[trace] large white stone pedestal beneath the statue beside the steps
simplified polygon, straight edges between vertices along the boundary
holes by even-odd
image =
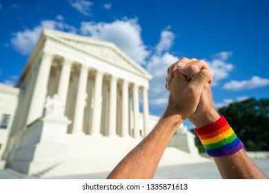
[[[67,157],[66,134],[70,121],[65,116],[46,116],[17,134],[7,166],[28,175],[48,170]]]

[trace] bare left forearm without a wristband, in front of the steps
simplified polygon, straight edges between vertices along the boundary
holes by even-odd
[[[182,123],[168,108],[159,123],[108,175],[108,179],[152,179],[170,139]]]

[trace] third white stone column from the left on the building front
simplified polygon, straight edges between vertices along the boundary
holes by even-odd
[[[88,68],[81,67],[79,74],[79,85],[77,88],[77,99],[74,107],[74,123],[72,133],[82,134],[84,108],[86,104],[86,88],[88,80]]]

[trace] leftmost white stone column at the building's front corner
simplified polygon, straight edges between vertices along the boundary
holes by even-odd
[[[26,125],[39,119],[43,115],[43,108],[48,90],[48,79],[50,77],[50,68],[52,65],[52,54],[43,52],[41,63],[37,74],[37,79],[32,93],[30,108],[26,119]]]

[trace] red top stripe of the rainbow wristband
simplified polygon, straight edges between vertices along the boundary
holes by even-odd
[[[204,126],[203,128],[195,128],[195,132],[198,135],[203,135],[203,134],[209,134],[211,132],[215,132],[219,130],[220,128],[223,128],[226,125],[227,121],[224,118],[224,116],[221,116],[218,121],[211,123],[209,125]]]

